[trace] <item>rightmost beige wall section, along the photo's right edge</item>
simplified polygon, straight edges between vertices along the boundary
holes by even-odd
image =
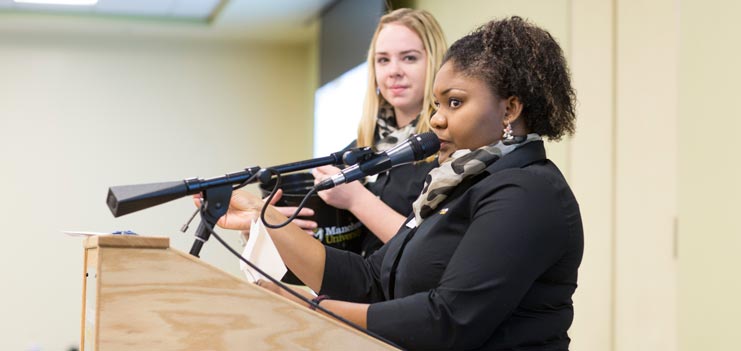
[[[738,1],[681,1],[680,350],[738,349],[741,23]]]

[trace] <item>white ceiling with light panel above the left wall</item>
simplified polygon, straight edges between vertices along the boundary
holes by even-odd
[[[0,0],[3,31],[120,33],[301,42],[337,0],[98,0],[60,6]]]

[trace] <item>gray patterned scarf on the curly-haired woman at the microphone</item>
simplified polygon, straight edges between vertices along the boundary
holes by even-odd
[[[531,141],[542,140],[538,134],[528,134],[527,138],[518,144],[504,145],[501,141],[496,144],[482,146],[476,150],[461,149],[450,155],[439,167],[427,174],[422,193],[412,207],[414,208],[415,223],[419,225],[425,218],[435,212],[440,203],[450,195],[464,179],[479,174],[489,165]]]

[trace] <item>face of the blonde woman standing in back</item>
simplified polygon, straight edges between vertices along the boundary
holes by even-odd
[[[397,112],[418,114],[422,110],[427,52],[422,40],[401,24],[383,26],[376,38],[374,66],[376,84]]]

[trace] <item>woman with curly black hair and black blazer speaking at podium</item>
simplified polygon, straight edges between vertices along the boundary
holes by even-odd
[[[433,94],[440,166],[386,245],[363,259],[292,225],[273,241],[322,307],[403,347],[567,350],[582,222],[542,141],[574,131],[561,48],[521,18],[489,22],[453,44]],[[219,224],[262,205],[240,193]]]

